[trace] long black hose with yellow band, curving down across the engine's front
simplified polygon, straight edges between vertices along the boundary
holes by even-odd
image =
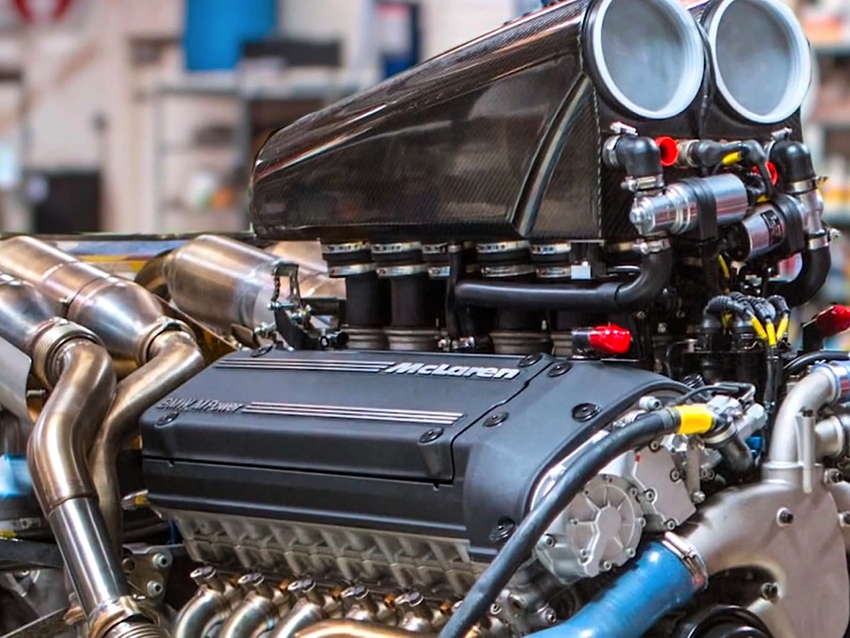
[[[575,495],[581,492],[587,481],[621,454],[646,445],[658,436],[675,433],[683,424],[683,413],[680,411],[683,409],[667,408],[646,414],[614,430],[602,441],[578,454],[564,470],[564,474],[555,481],[552,489],[519,523],[513,536],[507,540],[463,599],[461,606],[440,630],[438,638],[463,638],[467,635],[531,555],[541,536]]]

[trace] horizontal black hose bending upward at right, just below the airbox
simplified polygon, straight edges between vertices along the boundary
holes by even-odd
[[[623,312],[650,305],[670,282],[673,256],[669,249],[643,255],[638,277],[627,283],[580,284],[519,282],[459,282],[455,299],[461,305],[516,310],[583,310]]]

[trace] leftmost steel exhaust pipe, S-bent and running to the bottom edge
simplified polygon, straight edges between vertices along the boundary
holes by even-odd
[[[0,336],[31,356],[51,390],[27,451],[33,489],[44,510],[91,638],[144,628],[162,636],[130,595],[94,496],[85,451],[116,389],[111,358],[90,331],[54,316],[35,288],[0,279]]]

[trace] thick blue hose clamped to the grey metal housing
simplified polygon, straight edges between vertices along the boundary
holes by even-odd
[[[639,638],[702,588],[700,578],[664,544],[651,543],[607,590],[557,627],[534,638]]]

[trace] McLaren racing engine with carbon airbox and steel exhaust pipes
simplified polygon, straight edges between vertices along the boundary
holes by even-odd
[[[250,235],[134,281],[0,242],[8,609],[48,591],[92,638],[850,635],[802,29],[779,0],[546,5],[273,134]]]

